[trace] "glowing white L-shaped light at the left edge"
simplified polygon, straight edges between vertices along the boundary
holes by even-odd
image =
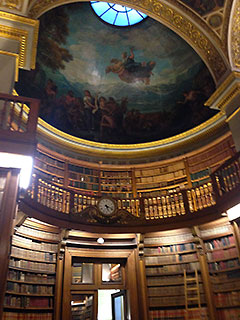
[[[0,152],[0,167],[19,168],[19,187],[27,189],[30,183],[33,167],[33,158],[21,154]]]

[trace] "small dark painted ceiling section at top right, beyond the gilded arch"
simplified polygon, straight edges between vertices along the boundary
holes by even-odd
[[[201,16],[223,8],[225,0],[181,0]]]

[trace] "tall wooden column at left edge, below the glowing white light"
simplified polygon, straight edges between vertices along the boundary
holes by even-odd
[[[3,313],[13,219],[16,214],[19,171],[20,169],[0,169],[0,319]]]

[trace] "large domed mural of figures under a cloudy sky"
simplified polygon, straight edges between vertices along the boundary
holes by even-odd
[[[20,73],[16,90],[41,99],[51,125],[97,142],[155,141],[216,113],[204,107],[211,75],[179,36],[151,18],[113,27],[89,3],[40,18],[37,66]]]

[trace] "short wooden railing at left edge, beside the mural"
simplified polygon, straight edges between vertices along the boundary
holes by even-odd
[[[33,135],[39,100],[0,93],[0,130]]]

